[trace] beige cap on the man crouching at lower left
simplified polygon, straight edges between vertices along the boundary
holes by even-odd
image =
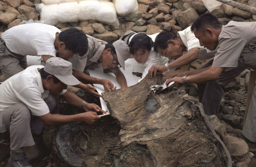
[[[48,59],[45,63],[44,71],[54,75],[66,85],[73,86],[80,83],[80,81],[72,75],[72,63],[62,58],[51,57]]]

